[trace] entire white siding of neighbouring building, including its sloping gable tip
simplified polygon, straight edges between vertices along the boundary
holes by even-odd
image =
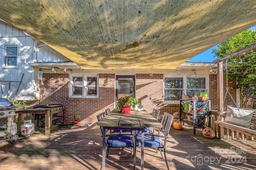
[[[38,48],[38,52],[36,52],[36,46],[41,44],[43,43],[0,20],[0,81],[3,89],[3,93],[0,89],[0,97],[3,94],[7,98],[10,89],[11,100],[13,100],[24,73],[16,99],[39,100],[38,70],[34,70],[28,63],[70,61],[47,45]],[[18,45],[18,68],[4,68],[4,45]]]

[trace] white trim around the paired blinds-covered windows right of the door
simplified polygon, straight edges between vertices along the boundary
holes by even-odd
[[[171,77],[171,78],[175,78],[175,77],[183,77],[183,93],[186,93],[187,90],[187,77],[204,77],[205,78],[205,88],[206,88],[206,92],[209,93],[209,75],[164,75],[164,81],[166,77]],[[208,94],[209,95],[209,94]],[[184,96],[183,96],[184,97]],[[178,104],[180,103],[180,100],[176,100],[176,101],[165,101],[164,100],[164,84],[163,84],[163,101],[164,104]]]

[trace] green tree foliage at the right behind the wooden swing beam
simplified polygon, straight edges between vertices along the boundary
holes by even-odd
[[[248,29],[218,44],[218,49],[213,49],[212,53],[219,58],[253,43],[256,43],[256,31]],[[239,63],[240,59],[242,63]],[[256,49],[228,59],[227,64],[228,78],[235,79],[236,88],[240,89],[240,107],[248,108],[249,104],[253,108],[256,101]]]

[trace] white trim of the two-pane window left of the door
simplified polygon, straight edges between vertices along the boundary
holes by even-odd
[[[73,85],[72,79],[73,77],[83,77],[83,95],[72,95]],[[87,95],[87,77],[97,77],[97,95]],[[70,74],[69,75],[70,87],[69,87],[69,97],[70,98],[98,98],[99,97],[99,75],[98,74]]]

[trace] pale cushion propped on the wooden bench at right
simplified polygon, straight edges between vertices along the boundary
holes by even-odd
[[[245,110],[228,106],[224,122],[240,127],[250,128],[253,112],[253,110]]]

